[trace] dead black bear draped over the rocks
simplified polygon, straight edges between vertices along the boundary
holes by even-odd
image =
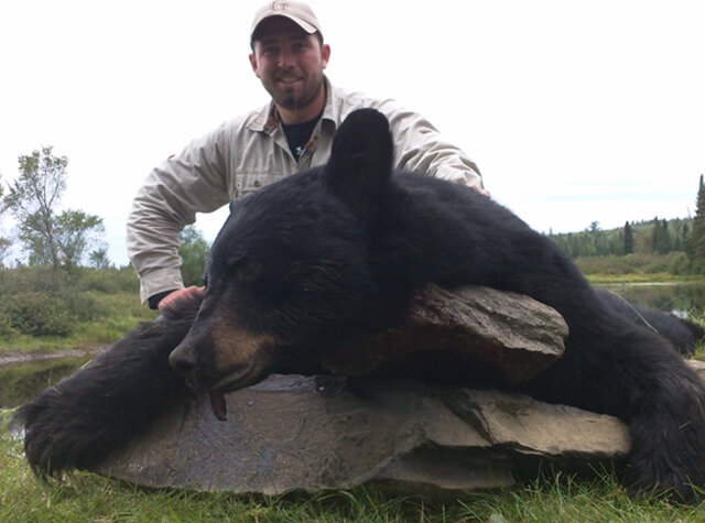
[[[95,462],[187,394],[169,352],[224,417],[226,392],[270,372],[316,372],[337,341],[393,325],[424,284],[480,284],[528,294],[568,324],[565,356],[523,390],[620,417],[633,491],[692,499],[691,484],[705,486],[705,388],[671,344],[615,312],[509,210],[467,187],[393,172],[393,154],[384,117],[356,111],[325,166],[236,201],[205,295],[20,410],[32,466],[51,473]]]

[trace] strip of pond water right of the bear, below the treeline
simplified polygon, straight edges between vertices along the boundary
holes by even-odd
[[[643,307],[673,313],[680,317],[699,316],[705,310],[705,284],[649,283],[599,285]]]

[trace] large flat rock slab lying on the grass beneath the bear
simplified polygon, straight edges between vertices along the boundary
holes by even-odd
[[[618,420],[497,391],[411,380],[271,375],[175,405],[97,472],[144,487],[267,495],[375,484],[457,495],[584,469],[629,449]],[[543,461],[543,465],[542,465]]]

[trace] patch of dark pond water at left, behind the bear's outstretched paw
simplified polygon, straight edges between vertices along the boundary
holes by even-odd
[[[22,405],[76,372],[90,357],[59,358],[0,367],[0,408]]]

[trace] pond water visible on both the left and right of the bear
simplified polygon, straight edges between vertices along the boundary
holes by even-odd
[[[705,284],[629,284],[604,285],[636,304],[686,316],[702,316],[705,310]],[[14,407],[36,393],[70,375],[89,357],[62,358],[11,366],[0,366],[0,408]]]

